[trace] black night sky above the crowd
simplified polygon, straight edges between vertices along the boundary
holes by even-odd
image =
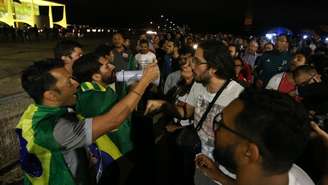
[[[73,24],[135,27],[164,14],[195,31],[238,30],[247,10],[256,28],[328,24],[328,0],[67,0],[66,4]]]

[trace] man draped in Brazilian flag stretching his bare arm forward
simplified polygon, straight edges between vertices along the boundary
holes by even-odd
[[[69,108],[75,105],[79,84],[62,61],[39,61],[24,70],[22,86],[34,100],[16,129],[24,184],[103,184],[106,168],[99,149],[89,146],[122,124],[158,76],[158,66],[149,65],[134,89],[109,112],[80,120]]]

